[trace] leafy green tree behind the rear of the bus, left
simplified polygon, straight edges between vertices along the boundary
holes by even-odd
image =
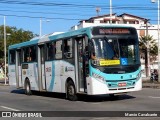
[[[4,59],[3,31],[4,31],[4,26],[1,25],[0,26],[0,62],[3,61]],[[25,42],[37,36],[36,34],[33,34],[33,32],[31,31],[25,31],[23,29],[17,29],[16,27],[10,27],[10,26],[6,26],[6,34],[9,34],[9,36],[7,35],[7,39],[6,39],[7,50],[9,45]]]

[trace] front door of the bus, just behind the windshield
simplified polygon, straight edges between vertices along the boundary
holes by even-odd
[[[87,85],[86,85],[86,77],[88,74],[88,67],[87,67],[87,57],[86,57],[86,48],[87,44],[85,41],[85,37],[76,38],[76,50],[75,52],[75,60],[78,62],[76,64],[76,73],[77,73],[77,81],[78,81],[78,89],[80,92],[86,92]],[[88,49],[88,48],[87,48]],[[76,63],[76,62],[75,62]]]

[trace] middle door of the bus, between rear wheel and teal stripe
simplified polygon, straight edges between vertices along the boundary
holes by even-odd
[[[38,52],[38,66],[39,66],[39,82],[40,82],[40,90],[46,90],[46,75],[45,75],[45,46],[39,46]]]

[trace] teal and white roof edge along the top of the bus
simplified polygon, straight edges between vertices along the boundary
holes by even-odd
[[[68,31],[68,32],[56,32],[56,33],[44,35],[42,37],[32,38],[30,41],[26,41],[26,42],[11,45],[11,46],[9,46],[9,49],[18,49],[18,48],[21,48],[21,47],[24,47],[24,46],[41,44],[41,43],[46,42],[46,41],[64,39],[64,38],[69,38],[71,36],[78,36],[78,35],[83,35],[83,34],[87,34],[89,37],[91,37],[90,31],[93,27],[134,28],[134,27],[124,26],[124,25],[90,26],[90,27],[81,28],[81,29],[78,29],[78,30],[71,30],[71,31]]]

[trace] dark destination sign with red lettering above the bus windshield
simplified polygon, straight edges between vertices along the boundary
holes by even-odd
[[[92,30],[93,35],[129,35],[132,33],[132,29],[128,28],[105,28],[105,27],[95,27]]]

